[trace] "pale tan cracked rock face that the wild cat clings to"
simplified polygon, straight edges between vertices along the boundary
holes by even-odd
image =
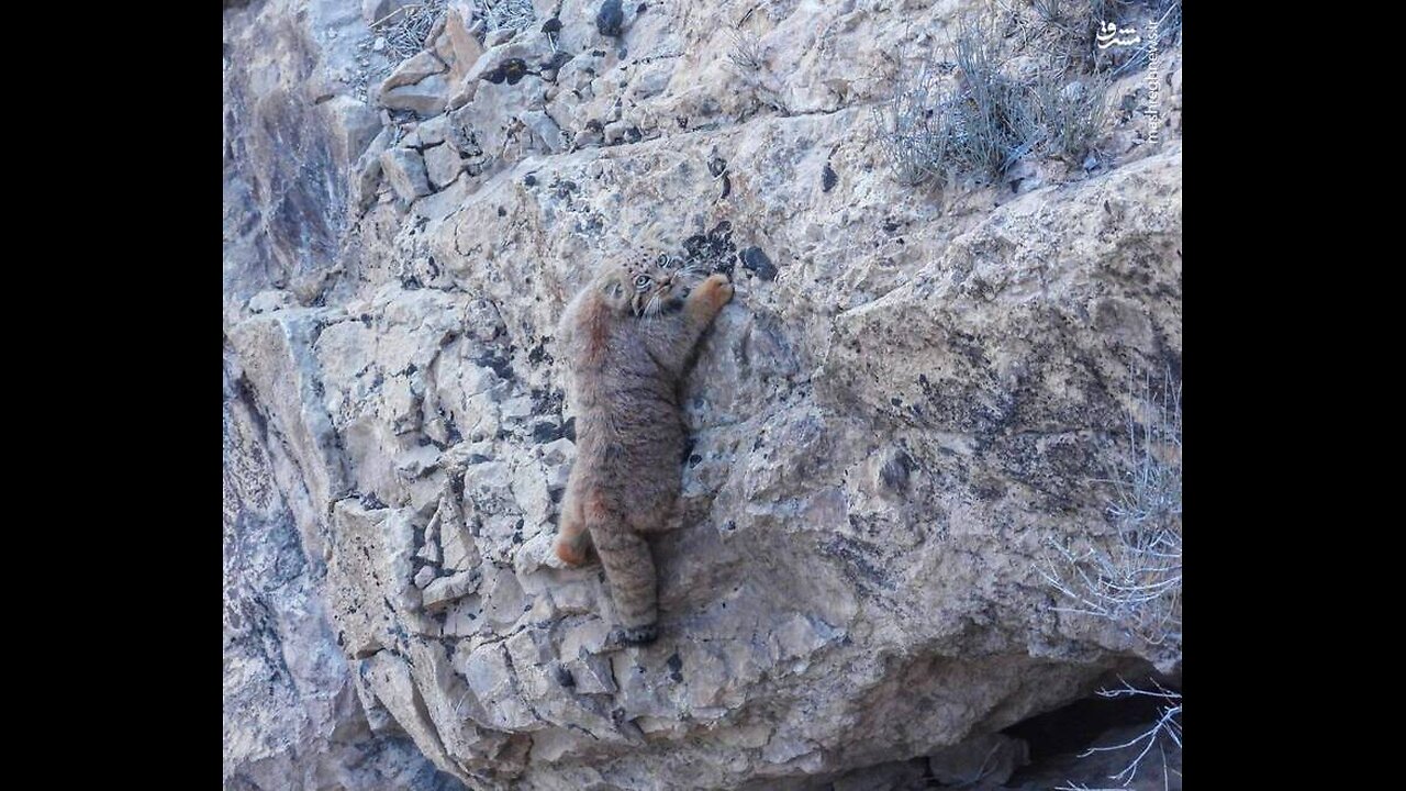
[[[1180,49],[1157,142],[938,194],[872,110],[963,3],[450,3],[408,65],[344,6],[225,10],[226,788],[869,788],[1175,670],[1036,567],[1104,529],[1123,383],[1180,377]],[[737,296],[620,649],[548,563],[553,332],[651,227]]]

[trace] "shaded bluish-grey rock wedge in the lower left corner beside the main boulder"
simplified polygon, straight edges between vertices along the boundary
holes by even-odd
[[[225,788],[449,791],[404,730],[377,728],[309,571],[250,391],[225,370]]]

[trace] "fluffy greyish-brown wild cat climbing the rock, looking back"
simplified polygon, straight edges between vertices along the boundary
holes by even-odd
[[[554,545],[569,566],[592,543],[614,600],[621,643],[658,636],[654,557],[679,495],[685,426],[678,386],[699,336],[733,298],[723,274],[692,290],[669,255],[610,263],[567,307],[557,338],[571,370],[576,462]]]

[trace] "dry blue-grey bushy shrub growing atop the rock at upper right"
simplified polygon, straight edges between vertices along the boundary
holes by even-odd
[[[1099,48],[1105,24],[1142,38]],[[1112,82],[1180,37],[1180,0],[1032,0],[967,17],[950,61],[908,72],[876,111],[889,160],[905,183],[945,186],[995,183],[1022,159],[1083,165],[1109,118]]]

